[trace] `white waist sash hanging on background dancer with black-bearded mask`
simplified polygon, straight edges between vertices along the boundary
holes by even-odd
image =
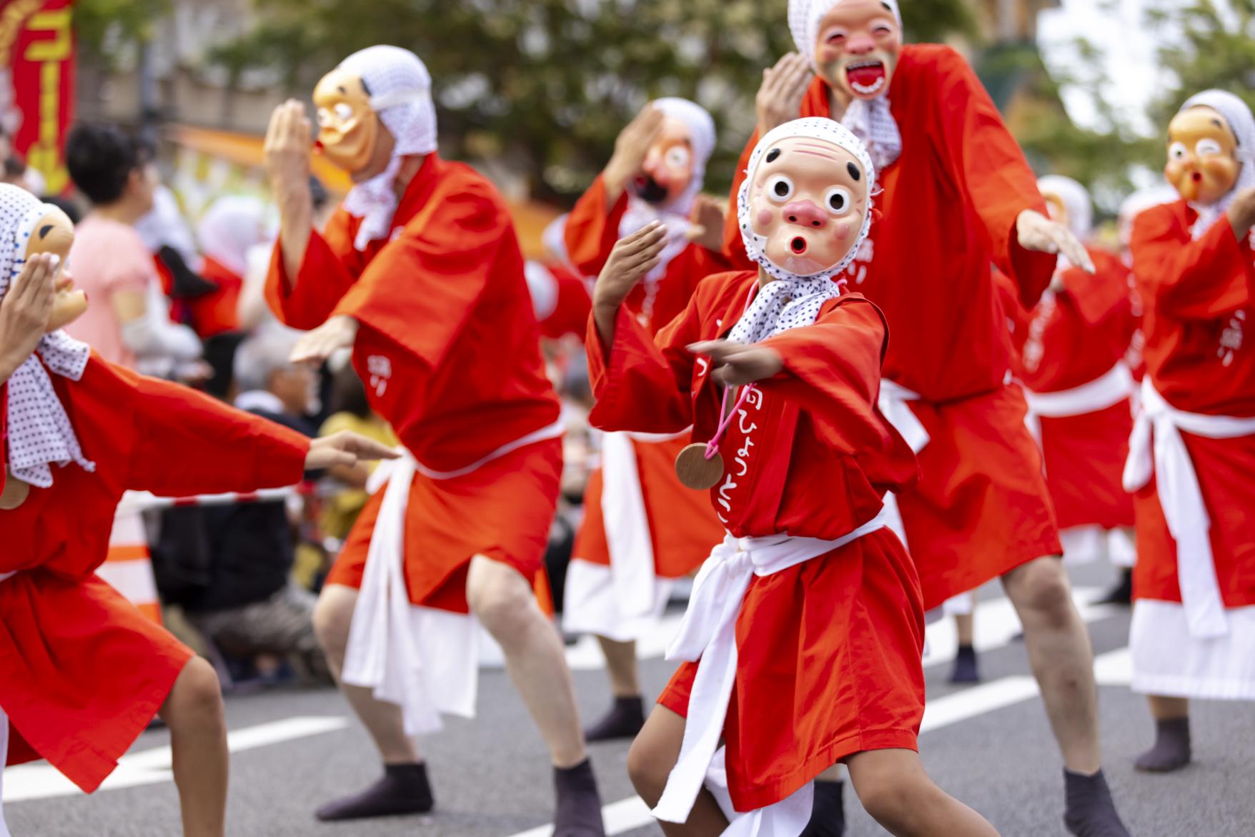
[[[601,437],[601,522],[610,552],[610,577],[620,612],[629,619],[654,612],[654,543],[640,488],[634,442],[656,444],[688,434],[606,433]]]

